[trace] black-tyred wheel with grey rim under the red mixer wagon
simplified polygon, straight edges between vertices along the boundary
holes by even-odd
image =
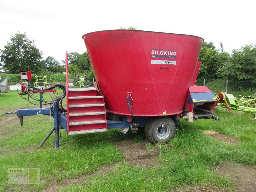
[[[175,134],[175,124],[170,117],[149,119],[145,125],[145,135],[151,143],[170,140]]]

